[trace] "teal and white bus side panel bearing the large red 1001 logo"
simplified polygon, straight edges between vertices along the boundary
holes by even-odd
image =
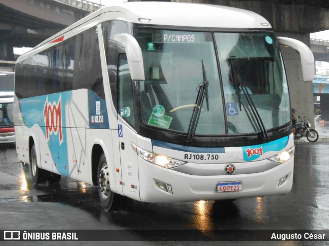
[[[29,128],[29,136],[34,136],[36,147],[40,148],[41,168],[57,169],[55,172],[64,176],[69,176],[65,123],[65,105],[69,100],[71,92],[20,99],[24,124]],[[55,168],[53,163],[56,163]]]

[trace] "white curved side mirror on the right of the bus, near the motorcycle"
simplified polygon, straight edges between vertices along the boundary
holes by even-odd
[[[304,81],[312,81],[315,75],[314,56],[312,51],[297,39],[289,37],[278,37],[280,45],[286,45],[297,50],[300,54],[303,79]]]

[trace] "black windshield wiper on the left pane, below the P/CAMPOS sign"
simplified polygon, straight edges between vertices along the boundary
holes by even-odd
[[[203,73],[204,81],[198,87],[199,90],[197,92],[195,107],[193,109],[193,113],[192,113],[190,125],[189,125],[189,130],[188,130],[188,135],[186,138],[187,142],[190,142],[192,140],[192,138],[194,137],[196,127],[197,127],[197,122],[199,121],[200,113],[202,110],[202,105],[204,103],[205,98],[206,98],[207,110],[209,111],[209,96],[208,96],[209,83],[207,80],[204,60],[201,60],[201,62],[202,62],[202,73]]]

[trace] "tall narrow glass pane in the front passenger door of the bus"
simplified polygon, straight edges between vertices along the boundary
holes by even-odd
[[[119,55],[118,64],[118,114],[135,127],[133,82],[125,54]]]

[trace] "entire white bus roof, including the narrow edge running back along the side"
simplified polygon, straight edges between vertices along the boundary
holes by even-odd
[[[124,2],[113,6],[103,7],[78,22],[68,26],[61,32],[49,37],[44,42],[35,46],[62,41],[64,34],[70,30],[84,29],[84,25],[96,25],[110,19],[120,19],[126,22],[162,25],[174,27],[199,27],[199,28],[243,28],[243,29],[265,29],[271,28],[269,22],[261,15],[249,10],[233,7],[193,4],[193,3],[172,3],[172,2]],[[77,33],[77,32],[76,32]],[[69,36],[68,36],[69,37]],[[67,38],[68,38],[67,37]],[[31,50],[23,54],[17,61],[20,61],[35,53]]]

